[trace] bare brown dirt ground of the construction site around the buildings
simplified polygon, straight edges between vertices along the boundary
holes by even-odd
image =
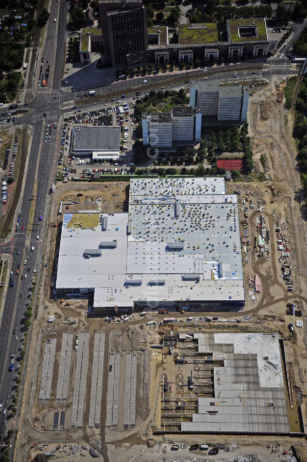
[[[282,102],[277,103],[277,93],[282,97]],[[291,135],[291,114],[289,112],[284,112],[283,110],[283,86],[279,85],[278,88],[275,87],[273,82],[270,83],[267,87],[261,88],[257,91],[256,95],[251,98],[250,109],[248,114],[248,123],[249,123],[249,136],[251,137],[251,142],[253,145],[253,153],[255,159],[255,175],[265,174],[267,179],[264,182],[250,182],[248,179],[244,183],[227,183],[227,192],[233,192],[240,188],[240,200],[244,197],[248,197],[249,200],[252,200],[255,208],[249,209],[249,217],[247,218],[248,222],[248,239],[251,241],[251,248],[247,250],[247,254],[244,254],[242,251],[243,259],[243,274],[245,278],[245,287],[246,287],[246,304],[244,310],[240,313],[234,315],[234,312],[223,312],[224,318],[234,319],[242,318],[245,315],[251,316],[249,322],[227,322],[227,323],[216,323],[216,322],[197,322],[184,326],[185,331],[204,330],[211,332],[225,332],[233,331],[240,332],[244,330],[245,332],[277,332],[285,340],[285,354],[286,361],[289,372],[289,388],[291,393],[291,399],[293,400],[294,412],[289,412],[289,421],[290,425],[296,424],[297,416],[297,407],[302,406],[302,416],[304,421],[307,421],[307,411],[306,403],[303,393],[307,393],[307,381],[306,381],[306,364],[307,364],[307,354],[306,354],[306,326],[303,323],[303,328],[296,328],[295,333],[291,334],[288,328],[289,322],[295,324],[295,319],[303,319],[295,316],[286,315],[286,304],[297,302],[300,306],[303,315],[306,314],[306,301],[307,301],[307,289],[306,289],[306,273],[307,273],[307,247],[305,242],[305,224],[301,216],[301,203],[300,203],[300,188],[298,182],[297,171],[295,170],[294,160],[292,158],[291,152],[287,141],[290,143],[292,151],[295,153],[295,146],[292,143]],[[262,107],[258,109],[259,103],[265,99],[265,103],[262,104]],[[270,117],[268,117],[270,114]],[[265,156],[265,170],[260,162],[260,156],[263,154]],[[107,184],[109,186],[107,186]],[[73,185],[73,187],[72,187]],[[272,202],[271,195],[271,186],[275,186],[276,192],[276,202]],[[107,187],[106,187],[107,186]],[[118,189],[116,189],[118,187]],[[102,199],[102,205],[105,207],[113,207],[108,211],[120,211],[126,210],[127,207],[127,192],[128,184],[127,183],[67,183],[60,184],[56,188],[56,191],[53,195],[53,203],[51,210],[51,219],[53,223],[60,224],[60,217],[58,217],[58,207],[59,201],[61,199],[77,199],[77,192],[82,192],[84,196],[81,199],[86,198],[87,188],[90,188],[90,197],[92,200],[96,201],[96,196],[105,197],[105,202]],[[114,188],[113,190],[111,188]],[[108,194],[108,196],[103,196],[103,191]],[[112,192],[111,192],[112,191]],[[246,193],[249,194],[246,194]],[[125,194],[124,194],[125,193]],[[252,195],[253,193],[253,195]],[[118,198],[112,197],[112,194],[118,196]],[[115,207],[111,204],[116,201],[120,202],[119,198],[124,198],[126,204],[120,207]],[[117,200],[118,199],[118,200]],[[238,198],[239,201],[239,198]],[[84,201],[83,201],[84,202]],[[122,202],[122,201],[121,201]],[[106,205],[108,203],[108,205]],[[264,212],[258,212],[258,205],[264,205]],[[240,204],[239,209],[240,209]],[[82,203],[84,207],[84,203]],[[96,204],[92,204],[96,206]],[[75,208],[76,207],[76,208]],[[121,208],[122,207],[122,208]],[[96,208],[96,207],[95,207]],[[63,212],[65,207],[63,207]],[[79,210],[80,205],[72,206],[72,210]],[[71,210],[71,206],[69,206]],[[103,210],[102,210],[103,211]],[[265,222],[267,228],[270,231],[270,258],[258,257],[258,253],[254,251],[254,240],[257,235],[256,231],[256,218],[258,215],[263,215],[265,217]],[[243,213],[239,211],[240,222],[243,220]],[[281,263],[278,262],[279,253],[277,251],[277,235],[276,235],[276,221],[279,224],[284,225],[284,235],[287,239],[287,245],[289,248],[289,258],[288,263],[292,267],[291,279],[294,281],[294,291],[287,292],[286,286],[280,277],[281,275]],[[243,232],[242,227],[240,232]],[[281,438],[270,436],[261,437],[244,437],[244,436],[231,436],[227,437],[224,435],[216,436],[207,436],[200,437],[194,435],[176,435],[174,438],[163,438],[153,436],[153,431],[155,428],[159,428],[160,424],[160,411],[161,411],[161,402],[159,401],[159,393],[161,387],[161,374],[167,370],[170,365],[168,363],[162,363],[159,355],[153,355],[152,351],[148,351],[148,346],[146,343],[141,343],[139,340],[136,342],[131,341],[132,332],[135,332],[135,336],[138,337],[138,332],[141,332],[141,335],[145,335],[146,340],[151,343],[153,340],[157,341],[158,330],[145,327],[145,321],[140,320],[138,315],[136,315],[135,320],[131,320],[125,324],[117,324],[114,326],[114,323],[106,323],[101,318],[91,318],[87,317],[84,311],[87,310],[88,302],[76,300],[71,306],[63,306],[60,304],[60,301],[54,302],[53,298],[50,297],[50,284],[52,280],[52,268],[53,268],[53,255],[56,239],[60,237],[60,226],[57,228],[50,228],[49,232],[49,242],[48,246],[48,255],[49,255],[49,264],[48,268],[45,268],[45,284],[43,292],[43,300],[41,300],[41,311],[38,325],[42,328],[47,328],[51,332],[55,332],[57,338],[60,339],[62,332],[68,331],[68,318],[76,320],[74,326],[69,326],[69,331],[77,333],[79,331],[88,331],[90,334],[93,334],[94,331],[102,330],[106,332],[106,342],[105,342],[105,355],[108,355],[109,350],[109,338],[110,332],[112,330],[122,332],[122,341],[121,341],[121,352],[126,353],[128,351],[134,351],[138,355],[138,389],[140,394],[138,397],[138,402],[136,405],[137,409],[137,420],[136,426],[127,431],[116,431],[112,429],[105,430],[103,422],[105,419],[106,408],[106,397],[102,398],[102,413],[101,413],[101,426],[99,429],[89,429],[86,425],[82,429],[72,429],[71,426],[66,426],[63,429],[63,432],[60,434],[54,435],[52,433],[37,433],[29,424],[27,415],[29,409],[29,400],[30,400],[30,384],[28,386],[28,393],[25,402],[25,412],[23,419],[23,427],[20,436],[20,448],[22,450],[28,450],[30,444],[36,441],[47,441],[54,442],[50,444],[51,446],[55,445],[55,441],[84,441],[85,444],[92,444],[93,447],[101,447],[101,454],[104,461],[130,461],[132,458],[135,462],[140,460],[146,461],[161,461],[162,458],[165,461],[174,460],[176,457],[189,457],[191,453],[188,450],[179,450],[170,451],[171,441],[176,443],[204,443],[208,444],[238,444],[240,450],[243,451],[241,454],[256,453],[269,461],[277,461],[278,456],[281,456],[281,450],[289,449],[291,444],[297,446],[301,445],[303,440],[295,438]],[[245,262],[244,257],[248,257],[248,261]],[[247,285],[247,276],[254,277],[255,274],[258,274],[261,281],[261,293],[257,294],[258,299],[254,301],[249,295],[250,289]],[[56,315],[56,320],[53,324],[47,325],[47,318],[50,314]],[[210,316],[221,315],[221,313],[210,312]],[[61,316],[61,317],[60,317]],[[64,319],[66,316],[67,319]],[[157,314],[150,314],[150,319],[160,321],[163,316]],[[203,316],[198,313],[198,316]],[[181,318],[182,321],[185,321],[187,318],[186,314],[175,313],[175,317]],[[62,324],[65,322],[65,324]],[[85,325],[83,325],[85,322]],[[141,328],[141,324],[143,328]],[[183,323],[178,324],[181,330],[183,329]],[[181,327],[182,326],[182,327]],[[160,328],[161,329],[161,328]],[[163,327],[164,329],[164,327]],[[165,328],[169,332],[169,326]],[[38,329],[36,334],[36,339],[34,339],[33,344],[38,345]],[[133,334],[134,336],[134,334]],[[139,338],[139,337],[138,337]],[[59,340],[60,341],[60,340]],[[36,347],[35,347],[36,348]],[[41,346],[42,348],[42,346]],[[58,352],[58,344],[57,350]],[[144,407],[144,396],[141,393],[142,385],[144,384],[144,353],[148,351],[148,360],[149,360],[149,377],[147,378],[148,382],[148,410],[147,407]],[[35,353],[32,353],[30,368],[34,368]],[[73,352],[74,353],[74,352]],[[40,364],[42,361],[42,355],[40,354]],[[73,355],[72,355],[73,356]],[[105,356],[106,359],[107,356]],[[57,359],[58,360],[58,359]],[[38,365],[39,371],[40,365]],[[108,361],[104,362],[104,370],[106,373],[103,376],[103,394],[106,394],[107,390],[107,378],[108,378]],[[143,370],[142,370],[143,368]],[[55,370],[57,368],[55,367]],[[141,373],[142,371],[142,377]],[[122,373],[122,370],[121,370]],[[36,374],[36,387],[37,381],[40,379],[40,373]],[[72,381],[73,383],[73,381]],[[88,389],[86,390],[88,392]],[[36,388],[37,392],[37,388]],[[53,387],[52,387],[52,393]],[[104,401],[103,401],[104,400]],[[88,397],[86,397],[86,402],[88,403]],[[31,410],[32,416],[35,416],[38,412],[41,412],[41,405],[37,404],[37,396],[33,401],[33,407]],[[44,405],[46,407],[46,405]],[[86,404],[88,406],[88,404]],[[54,409],[52,408],[52,411]],[[50,412],[52,414],[52,412]],[[67,413],[68,419],[68,413]],[[47,419],[46,422],[49,422]],[[86,418],[84,417],[84,422]],[[146,441],[148,438],[153,438],[155,446],[151,449],[147,448]],[[251,447],[251,438],[253,438],[253,444],[255,446]],[[200,441],[201,440],[201,441]],[[163,444],[165,447],[163,449]],[[271,449],[266,449],[266,446],[269,444],[277,445],[278,447],[276,454],[271,454]],[[243,447],[244,446],[244,447]],[[144,452],[143,452],[144,450]],[[57,453],[58,454],[58,453]],[[231,453],[231,456],[235,453]],[[305,448],[301,448],[301,459],[306,459]],[[204,457],[207,460],[206,455],[202,456],[201,453],[193,453],[193,457],[202,458]],[[224,457],[222,451],[222,457]],[[210,456],[210,458],[217,460],[221,458],[221,454],[218,456]],[[67,457],[66,457],[67,460]],[[74,460],[70,456],[70,460]],[[86,459],[85,459],[86,460]],[[100,459],[98,459],[100,460]],[[278,458],[281,460],[281,457]]]

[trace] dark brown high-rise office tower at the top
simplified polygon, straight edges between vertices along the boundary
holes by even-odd
[[[146,7],[140,0],[99,2],[103,48],[112,66],[127,63],[130,54],[147,49]]]

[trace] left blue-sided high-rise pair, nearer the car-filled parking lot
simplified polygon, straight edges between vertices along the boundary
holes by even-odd
[[[142,116],[143,144],[152,147],[170,147],[178,141],[200,140],[201,110],[190,106],[173,107],[166,114]]]

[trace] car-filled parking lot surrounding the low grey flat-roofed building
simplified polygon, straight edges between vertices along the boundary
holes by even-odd
[[[74,106],[73,114],[65,117],[60,143],[58,168],[59,170],[63,169],[66,172],[66,176],[69,173],[75,173],[77,178],[94,178],[97,177],[97,175],[95,175],[97,173],[99,173],[100,176],[114,173],[132,173],[130,172],[130,167],[133,165],[135,128],[131,109],[133,109],[134,103],[127,104],[120,100],[117,104],[116,106],[95,108],[88,112],[81,112],[78,106]],[[117,160],[97,160],[92,158],[92,152],[90,151],[74,152],[72,146],[72,131],[73,128],[81,124],[103,127],[123,127],[123,129],[121,129],[120,158]],[[91,167],[92,165],[94,165],[94,168]]]

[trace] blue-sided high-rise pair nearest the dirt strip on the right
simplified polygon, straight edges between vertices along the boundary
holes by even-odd
[[[190,106],[199,107],[203,116],[217,116],[220,121],[246,122],[248,97],[248,86],[191,82]]]

